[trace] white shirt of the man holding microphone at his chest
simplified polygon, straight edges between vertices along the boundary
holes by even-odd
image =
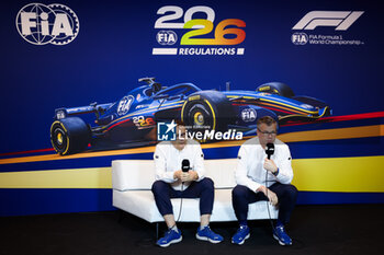
[[[156,146],[154,160],[156,179],[171,184],[177,190],[181,189],[181,181],[173,178],[173,173],[181,170],[183,160],[189,160],[191,170],[197,172],[199,179],[196,182],[204,178],[204,154],[200,143],[195,140],[187,140],[187,144],[182,150],[176,149],[171,141],[161,141]],[[185,182],[184,188],[190,183]]]

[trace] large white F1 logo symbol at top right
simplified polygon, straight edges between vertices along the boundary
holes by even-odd
[[[315,30],[317,26],[336,26],[336,31],[346,31],[364,12],[360,11],[312,11],[292,30]]]

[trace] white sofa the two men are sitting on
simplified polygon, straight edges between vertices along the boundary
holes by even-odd
[[[235,167],[237,159],[205,160],[206,175],[215,184],[215,201],[211,221],[236,221],[231,206],[231,189],[236,186]],[[115,160],[112,162],[113,206],[137,216],[148,222],[163,221],[150,190],[155,182],[155,166],[151,160]],[[174,218],[179,217],[180,198],[171,199]],[[248,219],[278,218],[279,210],[266,201],[249,205]],[[199,198],[183,199],[180,220],[200,222]]]

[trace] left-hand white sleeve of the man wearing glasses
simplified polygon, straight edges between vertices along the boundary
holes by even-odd
[[[257,193],[257,189],[261,184],[255,182],[248,176],[248,162],[252,160],[249,157],[246,146],[241,146],[238,157],[237,157],[237,169],[235,171],[235,178],[238,185],[247,186],[253,193]]]

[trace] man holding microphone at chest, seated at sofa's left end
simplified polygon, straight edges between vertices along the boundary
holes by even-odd
[[[171,198],[200,198],[201,223],[196,239],[219,243],[223,237],[210,229],[210,218],[214,201],[214,185],[204,177],[204,155],[199,142],[185,139],[185,127],[178,125],[177,140],[162,141],[156,146],[154,154],[156,182],[153,193],[157,208],[163,217],[168,231],[157,241],[161,247],[182,240],[181,231],[176,225]],[[191,170],[182,172],[183,160],[189,160]]]

